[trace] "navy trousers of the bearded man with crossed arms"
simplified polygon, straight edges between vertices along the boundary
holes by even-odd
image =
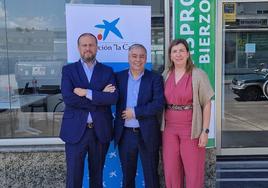
[[[65,144],[67,180],[66,188],[81,188],[84,175],[84,161],[88,154],[90,188],[102,188],[103,167],[110,143],[102,144],[95,135],[94,128],[86,128],[81,140],[76,144]]]

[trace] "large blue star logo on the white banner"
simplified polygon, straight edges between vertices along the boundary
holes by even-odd
[[[112,22],[108,22],[107,20],[102,20],[104,24],[95,25],[95,27],[97,27],[97,28],[104,29],[103,40],[105,40],[107,38],[110,31],[112,33],[114,33],[117,37],[123,39],[122,34],[116,28],[116,24],[118,23],[119,19],[120,18],[117,18],[117,19],[113,20]]]

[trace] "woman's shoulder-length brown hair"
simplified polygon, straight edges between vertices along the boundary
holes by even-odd
[[[187,43],[187,41],[185,39],[174,39],[173,41],[171,41],[169,47],[168,47],[168,71],[172,71],[174,70],[175,66],[174,66],[174,62],[171,60],[171,49],[173,48],[173,46],[176,46],[178,44],[182,44],[185,46],[186,51],[189,53],[189,57],[187,59],[186,62],[186,72],[192,72],[193,68],[194,68],[194,64],[191,58],[191,54],[190,54],[190,50],[189,50],[189,45]]]

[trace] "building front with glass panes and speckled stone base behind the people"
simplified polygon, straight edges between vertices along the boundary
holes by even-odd
[[[1,187],[65,185],[64,143],[58,135],[66,3],[151,6],[153,70],[161,73],[167,61],[172,0],[0,0]],[[225,187],[232,181],[216,177],[216,157],[219,163],[261,157],[264,167],[268,161],[268,0],[219,0],[213,8],[216,147],[207,152],[206,186]],[[260,187],[267,186],[268,177],[260,178]]]

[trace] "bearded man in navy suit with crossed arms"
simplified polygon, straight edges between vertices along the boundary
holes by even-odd
[[[65,142],[67,188],[81,188],[85,156],[91,188],[102,188],[103,167],[113,137],[111,105],[118,92],[113,70],[96,60],[97,39],[83,33],[77,40],[80,60],[62,69],[65,103],[60,138]]]

